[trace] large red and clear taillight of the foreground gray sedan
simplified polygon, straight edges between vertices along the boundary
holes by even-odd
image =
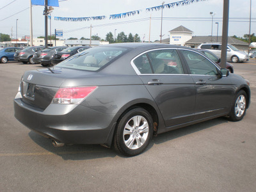
[[[54,96],[54,98],[52,99],[52,103],[79,104],[96,88],[97,86],[60,88]]]

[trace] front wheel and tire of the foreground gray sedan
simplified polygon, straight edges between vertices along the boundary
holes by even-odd
[[[231,111],[229,113],[228,120],[237,122],[242,120],[247,108],[247,94],[244,90],[240,90],[233,101]]]

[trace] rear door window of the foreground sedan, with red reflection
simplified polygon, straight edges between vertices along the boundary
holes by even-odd
[[[147,52],[154,74],[183,74],[179,56],[174,49]]]

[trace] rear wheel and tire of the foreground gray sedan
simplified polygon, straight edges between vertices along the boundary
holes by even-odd
[[[114,146],[125,156],[137,156],[148,147],[152,136],[153,120],[148,111],[133,108],[121,116],[114,136]]]

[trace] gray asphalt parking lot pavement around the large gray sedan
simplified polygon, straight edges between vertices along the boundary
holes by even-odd
[[[256,60],[234,63],[251,82],[241,122],[216,118],[154,137],[148,150],[124,157],[100,145],[54,148],[13,116],[25,70],[0,64],[0,191],[256,191]]]

